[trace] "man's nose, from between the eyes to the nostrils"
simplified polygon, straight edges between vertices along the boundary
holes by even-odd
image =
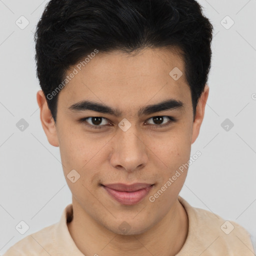
[[[148,148],[145,136],[132,124],[126,131],[119,129],[112,141],[110,163],[118,169],[134,171],[142,168],[148,161]]]

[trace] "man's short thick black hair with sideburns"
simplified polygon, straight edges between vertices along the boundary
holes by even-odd
[[[52,92],[70,66],[95,49],[131,53],[177,46],[195,114],[208,79],[212,29],[195,0],[50,0],[34,40],[36,74],[54,121],[58,93]]]

